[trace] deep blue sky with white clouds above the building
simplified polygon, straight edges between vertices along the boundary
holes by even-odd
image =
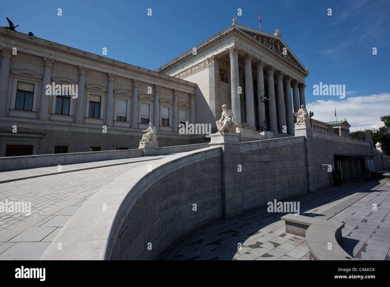
[[[62,16],[57,16],[57,9]],[[147,16],[147,9],[152,16]],[[237,9],[242,16],[237,16]],[[328,8],[332,16],[328,16]],[[25,1],[2,3],[0,25],[9,17],[17,31],[155,70],[237,16],[262,31],[280,29],[282,39],[308,66],[307,109],[314,118],[346,118],[352,129],[382,126],[390,114],[390,1]],[[377,55],[372,55],[372,48]],[[314,96],[313,85],[344,84],[346,97]]]

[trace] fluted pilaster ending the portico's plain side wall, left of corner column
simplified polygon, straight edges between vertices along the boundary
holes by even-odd
[[[211,127],[215,128],[216,111],[220,109],[219,102],[219,60],[215,55],[209,59],[211,66],[209,66],[209,121]]]

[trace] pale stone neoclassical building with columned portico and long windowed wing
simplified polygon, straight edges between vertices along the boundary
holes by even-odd
[[[279,30],[236,23],[155,71],[5,28],[0,51],[0,157],[133,149],[149,121],[161,147],[201,143],[179,124],[215,132],[223,104],[240,141],[293,136],[309,74]]]

